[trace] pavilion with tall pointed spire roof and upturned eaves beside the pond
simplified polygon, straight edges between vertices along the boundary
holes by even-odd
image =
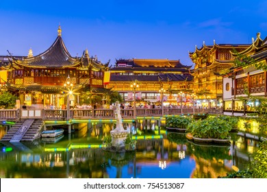
[[[58,28],[58,37],[54,43],[37,56],[29,50],[27,57],[18,58],[10,54],[8,71],[8,89],[20,95],[21,102],[29,106],[57,108],[66,104],[66,95],[71,89],[71,106],[79,104],[79,93],[103,93],[104,72],[107,64],[90,57],[88,50],[81,57],[73,57],[62,40],[62,29]],[[68,87],[64,86],[69,82]]]

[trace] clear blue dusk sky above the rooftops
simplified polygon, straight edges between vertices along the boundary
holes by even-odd
[[[47,50],[62,27],[72,56],[88,49],[105,63],[115,59],[180,60],[217,44],[251,44],[267,35],[267,1],[36,1],[0,0],[0,55],[34,56]]]

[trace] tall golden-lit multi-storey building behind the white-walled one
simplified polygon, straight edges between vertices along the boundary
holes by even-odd
[[[233,65],[233,49],[243,51],[249,45],[216,44],[205,45],[189,52],[194,62],[192,75],[194,76],[194,92],[198,97],[198,105],[204,107],[223,106],[223,77],[216,75],[223,69]]]

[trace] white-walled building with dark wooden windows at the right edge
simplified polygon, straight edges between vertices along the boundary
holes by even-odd
[[[248,56],[255,60],[254,64],[267,61],[267,37],[262,40],[257,33],[256,40],[247,49],[238,52],[242,56]],[[232,53],[236,57],[238,53]],[[253,110],[259,104],[257,100],[250,101],[248,94],[257,97],[267,97],[266,71],[249,67],[235,67],[234,65],[225,71],[220,71],[223,77],[223,100],[225,102],[225,114],[243,115]]]

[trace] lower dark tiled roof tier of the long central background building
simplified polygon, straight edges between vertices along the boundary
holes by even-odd
[[[161,74],[161,75],[111,75],[110,82],[190,82],[192,75]]]

